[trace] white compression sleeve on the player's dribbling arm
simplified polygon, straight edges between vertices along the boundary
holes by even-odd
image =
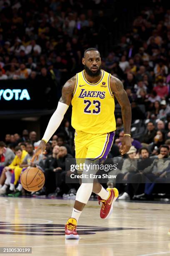
[[[47,125],[47,129],[42,138],[43,141],[45,141],[47,143],[47,141],[49,141],[49,139],[55,133],[57,128],[60,126],[60,123],[62,122],[62,119],[63,119],[68,107],[69,106],[67,104],[58,102],[57,109],[55,110],[54,114],[50,118],[50,121]]]

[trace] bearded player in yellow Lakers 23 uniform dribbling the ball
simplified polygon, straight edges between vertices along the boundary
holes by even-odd
[[[76,159],[106,159],[116,129],[114,96],[122,109],[125,131],[122,155],[129,151],[131,108],[122,82],[101,69],[100,53],[95,48],[85,51],[82,64],[85,70],[77,73],[64,84],[62,97],[32,161],[45,151],[45,144],[59,127],[70,104],[72,104],[72,127],[75,128]],[[82,183],[77,190],[72,216],[65,225],[65,238],[79,238],[76,231],[77,221],[92,192],[97,194],[99,202],[102,202],[100,217],[102,219],[109,217],[112,203],[118,197],[117,189],[104,189],[97,182]]]

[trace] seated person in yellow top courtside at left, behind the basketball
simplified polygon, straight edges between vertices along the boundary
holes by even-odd
[[[15,158],[13,159],[12,163],[8,166],[5,166],[4,172],[6,172],[6,180],[3,187],[0,189],[0,195],[4,195],[6,193],[8,185],[10,185],[9,192],[13,192],[15,190],[15,185],[18,182],[18,179],[20,177],[20,174],[22,172],[22,168],[20,167],[20,164],[23,162],[25,156],[28,154],[25,150],[22,150],[20,147],[15,147]],[[13,183],[11,183],[11,177],[13,172],[15,171],[15,180]]]

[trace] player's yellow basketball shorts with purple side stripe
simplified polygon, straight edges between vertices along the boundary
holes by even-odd
[[[107,159],[114,136],[114,131],[104,134],[75,131],[75,158],[101,161]]]

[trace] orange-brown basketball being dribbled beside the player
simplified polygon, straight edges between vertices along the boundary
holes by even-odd
[[[44,186],[44,183],[45,176],[36,167],[29,167],[21,174],[21,184],[27,191],[36,192]]]

